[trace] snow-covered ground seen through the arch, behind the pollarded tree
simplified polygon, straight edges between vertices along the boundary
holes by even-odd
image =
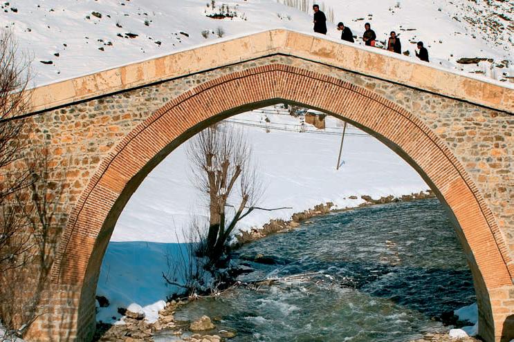
[[[270,122],[266,122],[266,117]],[[244,129],[253,146],[266,193],[261,207],[291,207],[254,211],[240,229],[260,227],[270,218],[289,219],[321,202],[355,207],[363,200],[401,196],[428,189],[420,176],[374,137],[349,126],[341,167],[337,171],[342,124],[327,117],[318,130],[285,113],[254,111],[227,120]],[[266,128],[269,133],[266,133]],[[187,144],[187,143],[186,143]],[[138,303],[147,318],[156,319],[163,298],[178,290],[163,281],[166,254],[180,260],[183,234],[193,216],[205,214],[205,203],[190,179],[185,147],[178,147],[140,185],[122,212],[102,263],[98,294],[111,301],[97,319],[113,321],[117,307]],[[358,196],[351,200],[349,196]],[[116,320],[115,320],[116,321]]]

